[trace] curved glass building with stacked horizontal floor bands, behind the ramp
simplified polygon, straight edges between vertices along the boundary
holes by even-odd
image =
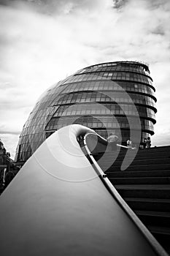
[[[147,64],[115,61],[85,67],[36,103],[21,132],[15,161],[26,162],[48,136],[69,124],[85,125],[104,138],[114,129],[123,144],[130,137],[129,121],[134,131],[139,129],[138,117],[144,140],[154,134],[155,102]]]

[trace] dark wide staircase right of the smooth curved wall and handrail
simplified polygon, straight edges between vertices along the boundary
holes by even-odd
[[[125,202],[170,255],[170,146],[140,149],[134,161],[120,170],[126,150],[105,172]],[[111,165],[115,152],[108,152],[101,169]],[[98,160],[101,154],[93,157]]]

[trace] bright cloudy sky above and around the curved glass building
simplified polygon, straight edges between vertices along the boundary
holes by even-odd
[[[39,96],[107,61],[149,64],[152,146],[170,145],[169,20],[169,0],[0,0],[0,138],[11,157]]]

